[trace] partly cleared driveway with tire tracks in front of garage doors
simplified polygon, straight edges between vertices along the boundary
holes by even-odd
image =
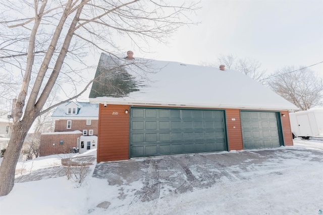
[[[118,198],[127,198],[129,205],[133,205],[167,198],[175,193],[228,184],[241,186],[244,182],[258,179],[264,183],[266,179],[270,180],[269,183],[275,183],[276,179],[289,180],[289,175],[298,174],[303,169],[310,170],[313,163],[323,163],[322,151],[281,147],[98,163],[92,177],[106,179],[110,186],[120,187]],[[134,189],[136,181],[139,186]],[[127,187],[130,188],[127,190]]]

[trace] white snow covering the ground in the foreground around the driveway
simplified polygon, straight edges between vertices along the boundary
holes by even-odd
[[[242,154],[254,154],[262,160],[250,157],[240,165],[234,158]],[[17,177],[42,169],[48,177],[15,183],[9,195],[0,197],[0,214],[320,214],[323,210],[323,139],[296,138],[293,147],[202,156],[220,160],[229,156],[233,161],[226,174],[231,174],[232,180],[222,177],[206,188],[192,186],[187,192],[173,192],[171,186],[159,179],[158,196],[136,201],[139,191],[144,189],[143,180],[126,183],[126,178],[120,178],[121,182],[111,183],[106,178],[92,177],[95,168],[92,165],[80,186],[66,176],[50,178],[52,170],[62,168],[60,160],[65,155],[19,163]],[[119,163],[127,165],[125,161]],[[202,165],[191,165],[185,171],[203,181],[197,171]],[[176,181],[177,176],[171,177]]]

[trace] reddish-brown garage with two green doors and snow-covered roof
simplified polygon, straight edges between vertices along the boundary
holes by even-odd
[[[293,145],[297,107],[239,71],[102,53],[97,161]]]

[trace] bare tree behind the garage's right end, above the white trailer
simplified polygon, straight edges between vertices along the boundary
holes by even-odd
[[[267,79],[267,85],[300,110],[322,104],[323,80],[308,68],[284,67],[273,74],[273,78]]]

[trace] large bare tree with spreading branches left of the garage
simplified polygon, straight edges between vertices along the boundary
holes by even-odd
[[[192,24],[186,15],[197,9],[197,3],[163,0],[3,0],[0,5],[2,66],[8,70],[7,66],[16,67],[23,77],[12,113],[12,138],[0,166],[0,196],[7,195],[14,186],[19,153],[35,119],[78,97],[90,85],[43,110],[58,81],[82,80],[76,71],[88,68],[87,51],[120,51],[114,35],[130,38],[134,44],[151,38],[165,42],[180,26]],[[69,60],[78,62],[75,69]]]

